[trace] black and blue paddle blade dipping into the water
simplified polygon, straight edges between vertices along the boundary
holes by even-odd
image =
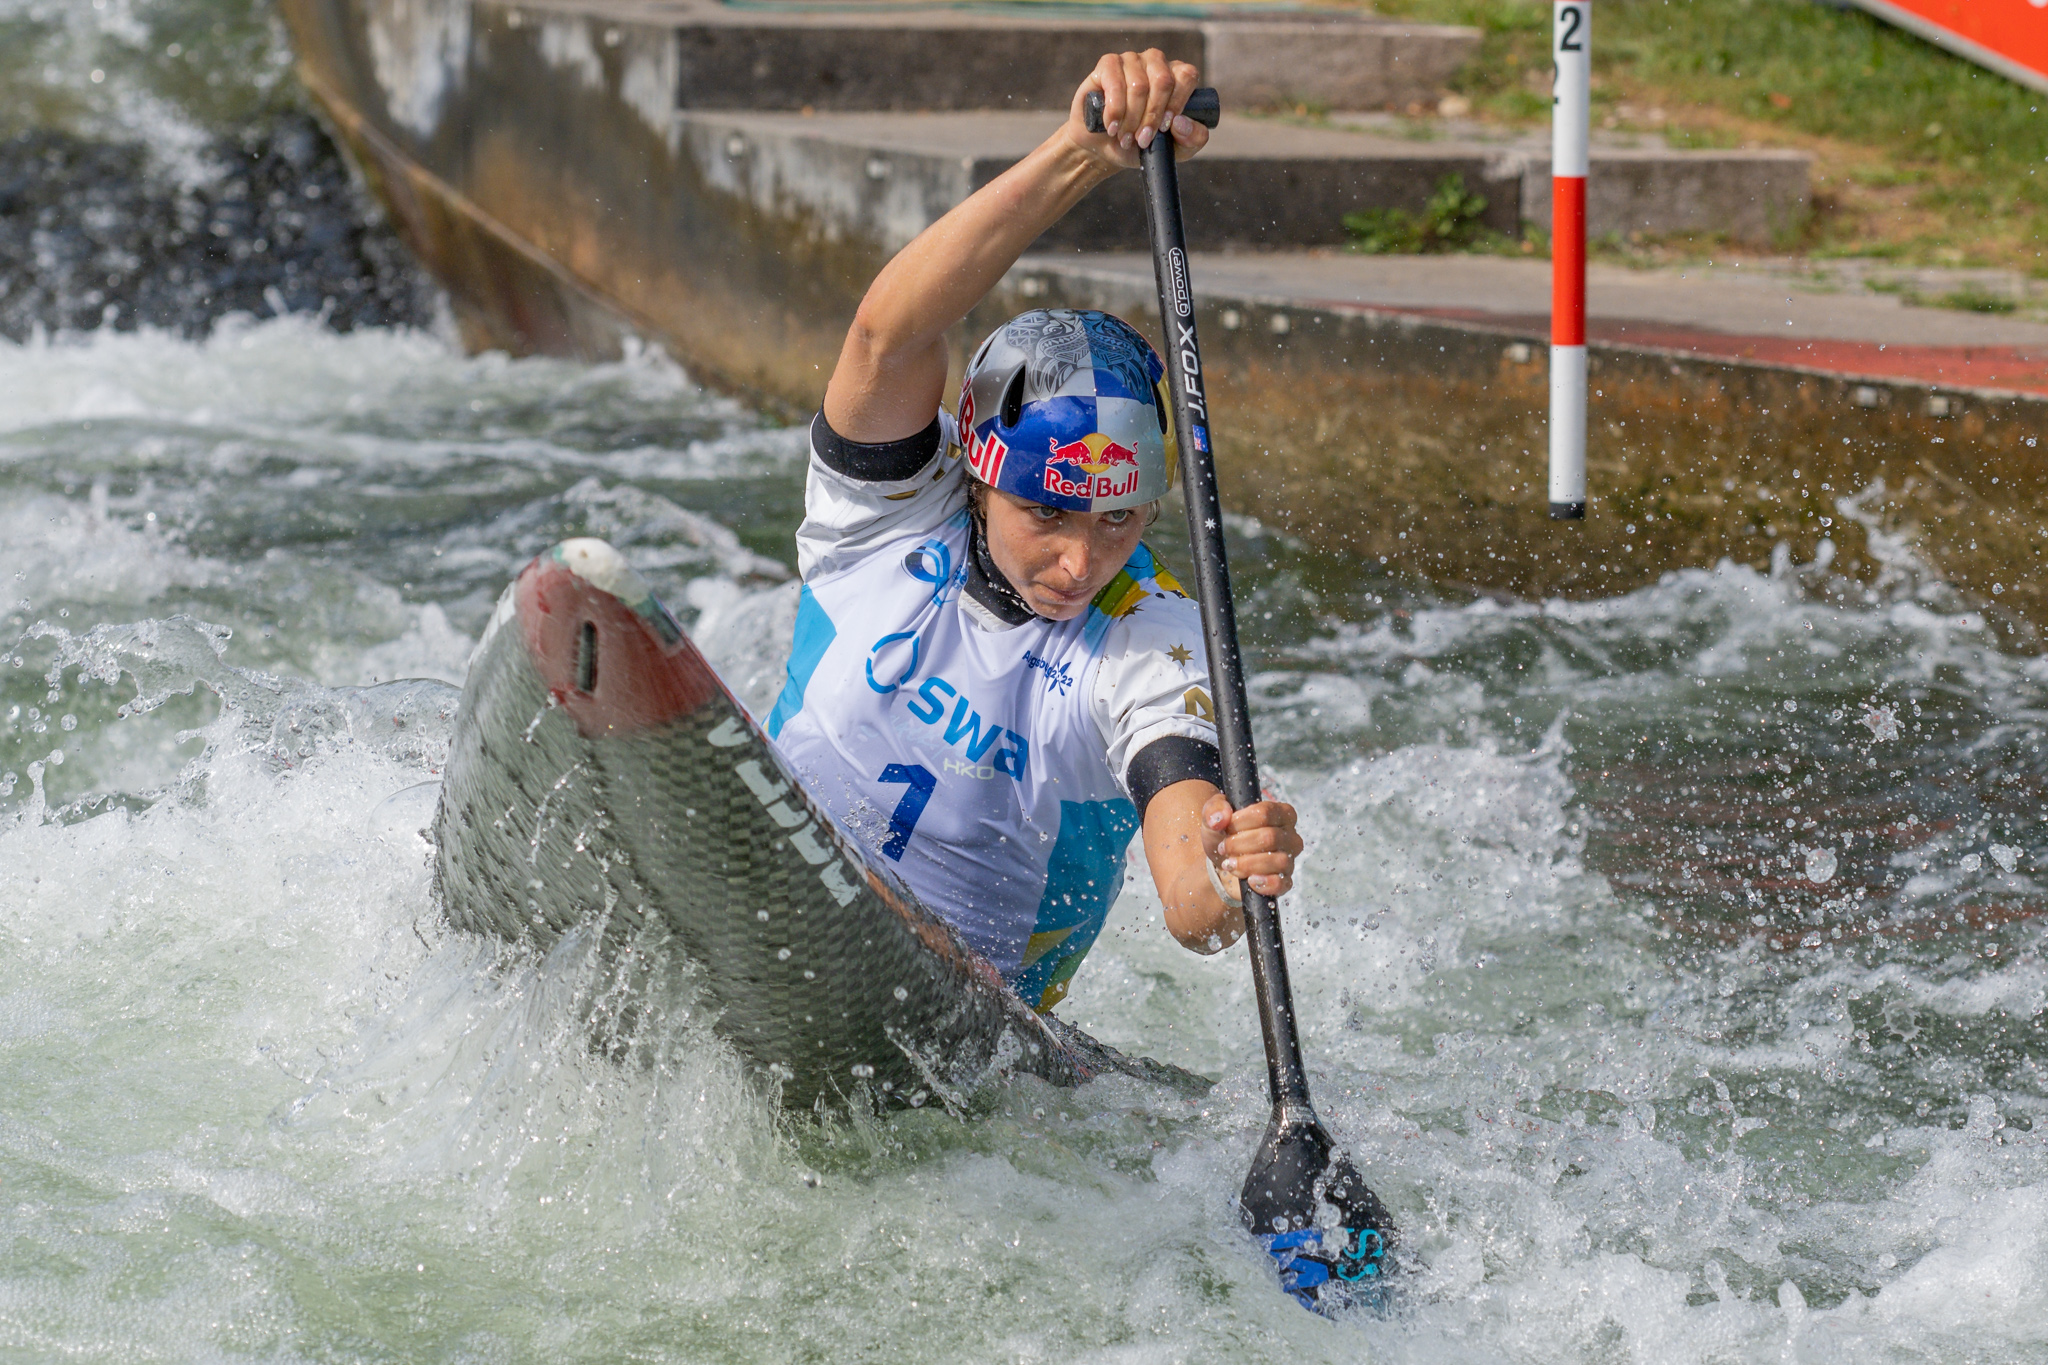
[[[1327,1238],[1317,1216],[1323,1203],[1337,1209]],[[1280,1287],[1303,1308],[1384,1308],[1393,1216],[1313,1117],[1274,1117],[1251,1158],[1241,1207],[1278,1265]]]

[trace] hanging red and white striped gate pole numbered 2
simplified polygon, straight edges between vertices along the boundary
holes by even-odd
[[[1585,518],[1585,143],[1593,4],[1552,0],[1550,57],[1550,518]]]

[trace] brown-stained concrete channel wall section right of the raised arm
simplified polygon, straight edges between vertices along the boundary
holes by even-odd
[[[1147,282],[1067,258],[1024,262],[967,332],[1061,305],[1155,332]],[[1774,557],[1911,587],[1921,563],[2005,643],[2048,626],[2048,471],[2030,444],[2048,403],[1950,397],[1933,417],[1909,385],[1593,346],[1595,505],[1550,522],[1538,338],[1229,297],[1202,299],[1198,327],[1225,505],[1339,559],[1528,598]]]

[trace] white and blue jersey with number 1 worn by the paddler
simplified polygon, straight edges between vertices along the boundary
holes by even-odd
[[[1051,1009],[1122,886],[1126,765],[1171,735],[1217,743],[1200,614],[1145,546],[1077,620],[989,614],[963,591],[967,475],[940,422],[940,454],[901,481],[811,452],[768,735],[852,837]]]

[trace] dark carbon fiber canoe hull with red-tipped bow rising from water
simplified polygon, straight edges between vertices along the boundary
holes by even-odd
[[[1032,1013],[842,837],[600,540],[555,546],[506,589],[463,686],[434,835],[461,929],[545,950],[602,915],[612,948],[672,935],[719,1033],[784,1107],[924,1103],[991,1068],[1186,1076]]]

